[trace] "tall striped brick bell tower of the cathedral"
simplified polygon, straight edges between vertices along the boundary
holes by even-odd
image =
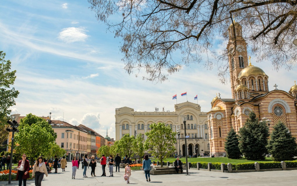
[[[229,42],[227,45],[232,98],[238,85],[238,74],[248,66],[247,43],[242,37],[242,27],[234,21],[228,28]]]

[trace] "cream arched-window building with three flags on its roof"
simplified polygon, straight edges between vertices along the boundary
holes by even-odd
[[[185,136],[187,136],[188,155],[193,153],[210,152],[208,142],[208,119],[206,112],[201,112],[198,104],[184,102],[174,105],[174,112],[135,112],[129,107],[116,109],[116,140],[121,139],[125,134],[134,135],[134,132],[141,133],[146,140],[145,133],[150,130],[152,123],[165,123],[170,125],[174,132],[180,129],[180,136],[176,135],[176,154],[185,156]],[[186,133],[184,132],[183,118],[181,115],[187,115]]]

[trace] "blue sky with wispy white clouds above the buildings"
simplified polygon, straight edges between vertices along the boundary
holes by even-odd
[[[114,16],[113,19],[117,17]],[[87,0],[24,1],[2,0],[0,4],[0,50],[17,70],[14,87],[20,94],[12,114],[32,113],[83,124],[105,136],[115,137],[115,109],[123,106],[135,111],[174,111],[186,97],[198,94],[201,110],[208,112],[216,93],[231,98],[230,83],[217,78],[217,66],[209,71],[203,64],[191,64],[154,83],[124,71],[120,53],[121,39],[114,38],[89,9]],[[225,46],[215,46],[223,50]],[[253,58],[252,58],[253,59]],[[276,83],[288,91],[296,79],[291,71],[273,70],[271,63],[253,63],[269,76],[269,88]]]

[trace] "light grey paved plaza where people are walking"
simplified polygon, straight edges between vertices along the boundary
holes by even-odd
[[[68,162],[68,167],[65,172],[61,168],[58,173],[50,173],[48,177],[44,177],[42,186],[67,186],[67,185],[128,185],[124,181],[124,168],[121,172],[115,172],[113,177],[100,177],[102,174],[101,166],[97,164],[95,174],[97,177],[91,177],[91,167],[87,169],[87,178],[83,178],[83,169],[78,169],[75,179],[71,179],[71,162]],[[106,167],[107,176],[109,176],[108,168]],[[185,171],[184,171],[185,172]],[[264,172],[243,172],[243,173],[221,173],[211,171],[198,171],[189,169],[189,176],[185,174],[166,174],[166,175],[151,175],[151,182],[146,182],[143,171],[132,171],[130,184],[132,185],[165,185],[165,186],[185,186],[185,185],[251,185],[251,186],[296,186],[297,185],[297,170],[288,171],[264,171]],[[6,185],[8,182],[1,181],[0,185]],[[18,181],[12,181],[12,185],[18,185]],[[34,185],[34,180],[27,181],[28,186]]]

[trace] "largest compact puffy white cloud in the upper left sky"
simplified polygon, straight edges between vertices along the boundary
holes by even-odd
[[[64,42],[72,43],[78,41],[85,41],[89,36],[86,34],[87,30],[83,27],[69,27],[63,28],[59,33],[59,39]]]

